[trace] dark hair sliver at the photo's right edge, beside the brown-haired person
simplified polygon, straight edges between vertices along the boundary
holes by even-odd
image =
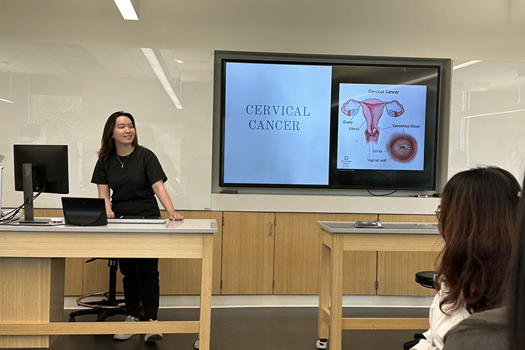
[[[525,186],[525,179],[524,186]],[[510,283],[510,350],[525,349],[525,200],[521,196],[518,209],[518,244],[514,253],[514,268]]]

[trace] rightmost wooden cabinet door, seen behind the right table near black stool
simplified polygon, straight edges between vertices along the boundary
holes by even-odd
[[[381,222],[436,223],[433,215],[379,215]],[[379,251],[377,255],[378,295],[435,295],[415,281],[419,271],[433,271],[439,264],[437,252]]]

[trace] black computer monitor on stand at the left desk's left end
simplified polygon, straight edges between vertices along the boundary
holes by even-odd
[[[37,193],[69,193],[66,145],[14,145],[15,190],[24,191],[25,221],[35,221],[33,197]]]

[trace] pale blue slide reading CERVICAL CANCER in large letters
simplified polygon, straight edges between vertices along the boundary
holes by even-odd
[[[225,64],[224,182],[328,185],[332,67]]]

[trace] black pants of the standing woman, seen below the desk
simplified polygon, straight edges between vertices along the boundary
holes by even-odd
[[[159,260],[158,258],[118,259],[124,275],[124,298],[127,312],[140,317],[141,305],[144,320],[157,319],[159,310]]]

